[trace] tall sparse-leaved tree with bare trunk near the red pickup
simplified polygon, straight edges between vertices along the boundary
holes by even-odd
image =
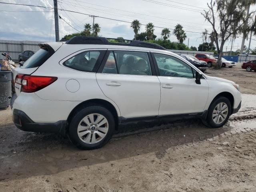
[[[213,29],[215,44],[218,52],[217,68],[221,68],[222,51],[225,42],[230,37],[236,37],[244,30],[244,23],[251,19],[246,17],[246,0],[211,0],[207,3],[208,11],[201,13]],[[217,12],[217,14],[216,14]],[[215,15],[216,14],[216,15]]]

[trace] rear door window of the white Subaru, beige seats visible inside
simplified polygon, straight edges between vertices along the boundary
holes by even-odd
[[[147,52],[111,51],[102,73],[152,75]]]

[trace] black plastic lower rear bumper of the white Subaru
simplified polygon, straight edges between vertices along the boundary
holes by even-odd
[[[14,109],[12,120],[17,128],[28,132],[48,132],[60,133],[65,135],[66,120],[61,120],[55,123],[36,123],[21,110]]]

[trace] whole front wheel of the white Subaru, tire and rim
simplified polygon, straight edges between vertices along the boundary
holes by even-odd
[[[206,122],[211,128],[219,128],[228,121],[230,114],[230,101],[226,97],[219,97],[210,105]]]

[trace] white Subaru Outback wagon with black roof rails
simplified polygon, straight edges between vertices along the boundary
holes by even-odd
[[[127,122],[201,118],[218,128],[241,106],[237,84],[156,44],[76,36],[39,46],[14,71],[14,124],[68,135],[82,149],[104,146]]]

